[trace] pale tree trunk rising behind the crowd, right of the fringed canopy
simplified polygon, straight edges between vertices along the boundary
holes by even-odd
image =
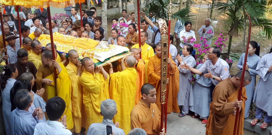
[[[104,28],[105,39],[108,39],[107,5],[108,5],[108,0],[104,0],[104,2],[101,3],[102,28]]]

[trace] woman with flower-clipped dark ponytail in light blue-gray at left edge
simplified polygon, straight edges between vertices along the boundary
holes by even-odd
[[[11,133],[9,126],[9,116],[11,112],[10,103],[10,90],[16,82],[15,78],[18,76],[18,70],[14,64],[7,64],[4,66],[4,71],[2,72],[2,79],[0,81],[2,104],[3,104],[3,117],[5,122],[5,128],[7,134]]]

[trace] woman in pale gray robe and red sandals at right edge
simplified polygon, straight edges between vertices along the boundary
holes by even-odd
[[[271,49],[272,51],[272,49]],[[272,52],[265,54],[260,60],[256,72],[260,75],[257,83],[253,101],[256,105],[255,118],[251,121],[255,125],[262,119],[262,113],[265,111],[264,122],[261,128],[267,128],[272,122]]]

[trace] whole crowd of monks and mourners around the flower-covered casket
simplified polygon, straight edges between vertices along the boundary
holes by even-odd
[[[262,119],[263,113],[265,118],[260,127],[267,128],[272,122],[272,48],[269,54],[260,58],[260,45],[251,41],[246,63],[244,53],[237,63],[240,72],[234,76],[229,74],[228,63],[220,58],[218,47],[211,47],[203,57],[203,63],[196,66],[193,44],[182,42],[196,39],[191,30],[192,23],[177,20],[174,36],[170,34],[166,81],[161,80],[161,74],[165,74],[161,73],[161,34],[152,12],[149,16],[140,12],[142,20],[137,24],[135,14],[127,14],[124,9],[119,19],[112,19],[119,27],[112,28],[108,40],[100,26],[102,18],[96,16],[94,7],[89,9],[94,11],[92,16],[85,10],[80,16],[76,7],[64,8],[71,17],[62,20],[58,27],[56,20],[52,20],[53,32],[103,40],[126,47],[132,53],[102,67],[95,66],[89,57],[79,59],[77,50],[60,55],[56,44],[51,43],[42,49],[37,39],[42,34],[49,34],[47,10],[22,8],[18,17],[12,8],[5,6],[4,22],[1,22],[4,27],[1,34],[6,41],[0,40],[0,62],[4,65],[0,81],[1,134],[80,134],[85,129],[85,134],[102,135],[106,134],[108,125],[112,134],[163,135],[165,130],[160,128],[161,81],[167,82],[169,87],[166,113],[175,112],[178,117],[184,117],[189,111],[194,112],[192,118],[201,118],[201,123],[207,124],[206,134],[232,134],[237,108],[240,108],[237,134],[243,134],[244,118],[249,116],[252,103],[256,105],[252,125]],[[17,19],[22,23],[16,23]],[[197,32],[200,38],[208,40],[201,47],[211,44],[209,39],[214,33],[208,33],[213,31],[210,23],[211,19],[206,19]],[[18,25],[21,26],[21,37]],[[176,44],[173,44],[174,38]],[[244,66],[242,100],[238,101]],[[192,73],[196,74],[194,85]],[[257,75],[260,80],[255,88]]]

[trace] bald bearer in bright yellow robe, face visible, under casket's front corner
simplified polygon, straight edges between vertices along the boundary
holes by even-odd
[[[94,67],[91,58],[85,57],[81,62],[84,71],[80,76],[80,83],[83,86],[83,103],[87,114],[86,127],[89,127],[103,120],[103,116],[100,115],[100,101],[109,99],[110,77],[102,66]]]

